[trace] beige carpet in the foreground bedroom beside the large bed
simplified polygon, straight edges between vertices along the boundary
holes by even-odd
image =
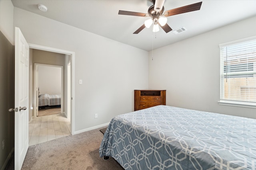
[[[113,158],[100,158],[100,129],[28,147],[22,170],[123,170]]]

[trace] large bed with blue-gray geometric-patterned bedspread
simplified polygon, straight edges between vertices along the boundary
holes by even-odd
[[[154,106],[114,117],[99,153],[126,170],[252,170],[256,119]]]

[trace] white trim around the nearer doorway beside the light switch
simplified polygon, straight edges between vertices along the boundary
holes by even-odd
[[[29,48],[31,49],[38,49],[38,50],[43,50],[43,51],[50,51],[54,53],[61,53],[65,55],[70,55],[70,62],[71,62],[71,78],[70,78],[70,84],[71,84],[71,90],[70,90],[70,97],[71,97],[71,102],[70,102],[70,133],[71,135],[74,135],[74,130],[75,130],[75,84],[74,84],[74,79],[75,79],[75,52],[73,51],[66,51],[62,49],[56,49],[52,47],[46,47],[42,45],[36,45],[36,44],[30,44],[28,43]]]

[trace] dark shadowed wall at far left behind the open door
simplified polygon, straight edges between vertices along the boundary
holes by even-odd
[[[0,169],[14,148],[14,46],[0,32]],[[5,141],[2,150],[2,141]]]

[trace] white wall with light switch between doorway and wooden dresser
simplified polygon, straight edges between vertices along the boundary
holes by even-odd
[[[19,8],[14,26],[28,43],[75,52],[75,131],[133,111],[134,89],[148,88],[147,51]]]

